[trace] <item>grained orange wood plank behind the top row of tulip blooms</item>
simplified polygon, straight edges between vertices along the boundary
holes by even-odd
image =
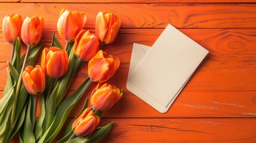
[[[94,27],[98,11],[120,15],[121,27],[163,28],[255,28],[255,4],[47,4],[1,3],[0,21],[6,14],[39,15],[45,25],[55,29],[61,9],[84,11],[87,27]],[[245,24],[246,23],[246,24]]]

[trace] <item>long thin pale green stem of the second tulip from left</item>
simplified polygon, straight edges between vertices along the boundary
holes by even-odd
[[[27,64],[27,58],[29,57],[29,50],[30,50],[30,46],[27,46],[27,52],[26,52],[26,55],[25,55],[25,58],[24,58],[24,62],[23,62],[21,71],[20,71],[20,77],[18,77],[17,88],[16,88],[16,92],[15,92],[15,95],[14,95],[13,111],[12,111],[12,114],[11,114],[11,126],[14,126],[13,122],[14,122],[14,116],[15,116],[15,111],[16,111],[16,106],[17,106],[18,92],[20,92],[20,85],[21,85],[21,81],[22,81],[22,73],[23,73],[23,71],[26,67],[26,64]]]

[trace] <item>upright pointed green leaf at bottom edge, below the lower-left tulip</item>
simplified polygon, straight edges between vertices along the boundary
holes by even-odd
[[[22,141],[23,142],[36,142],[35,136],[33,134],[33,128],[32,128],[32,120],[30,116],[31,111],[31,104],[32,104],[32,96],[29,97],[29,103],[27,104],[27,112],[24,122],[24,130],[22,132]]]

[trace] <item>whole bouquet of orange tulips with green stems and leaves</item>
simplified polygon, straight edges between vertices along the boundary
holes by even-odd
[[[98,85],[90,100],[84,103],[57,142],[98,142],[110,131],[113,123],[103,127],[98,127],[98,123],[103,111],[109,110],[122,97],[122,90],[106,83],[120,62],[118,57],[102,49],[104,44],[115,40],[121,20],[113,13],[98,13],[95,35],[84,29],[86,20],[85,13],[62,10],[57,29],[66,41],[64,49],[55,33],[51,46],[42,49],[44,18],[34,16],[22,21],[17,14],[4,17],[4,39],[11,43],[12,52],[0,100],[0,142],[10,142],[16,133],[20,142],[56,141],[69,113],[92,82]],[[22,57],[21,41],[27,45]],[[38,56],[41,51],[42,55]],[[36,62],[37,57],[41,57],[40,65]],[[75,75],[87,63],[87,79],[72,95],[64,98]],[[38,119],[36,111],[40,111]]]

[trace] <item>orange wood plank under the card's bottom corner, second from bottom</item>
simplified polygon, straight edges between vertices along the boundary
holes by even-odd
[[[69,117],[76,117],[90,95],[88,91]],[[168,112],[162,114],[125,89],[124,97],[105,111],[103,117],[256,117],[255,104],[254,91],[182,91]]]

